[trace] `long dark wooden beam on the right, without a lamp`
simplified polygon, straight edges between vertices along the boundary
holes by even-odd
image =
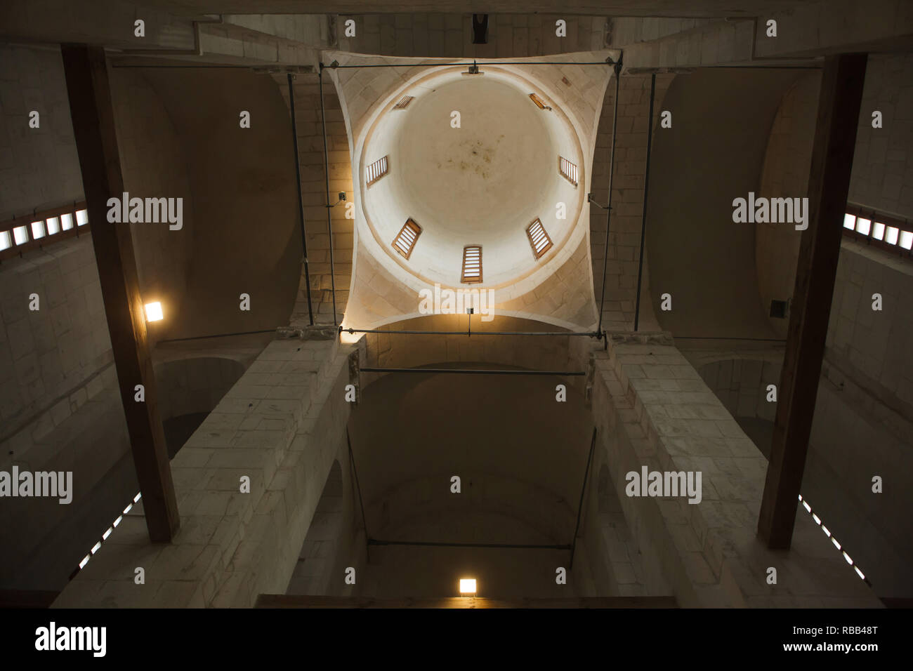
[[[809,225],[799,250],[771,461],[758,520],[758,535],[771,549],[787,549],[792,542],[834,297],[865,78],[866,54],[841,54],[824,61],[808,182]]]

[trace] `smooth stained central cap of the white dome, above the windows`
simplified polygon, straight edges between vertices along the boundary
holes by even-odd
[[[519,90],[484,78],[417,98],[397,143],[398,186],[416,218],[467,243],[490,243],[503,224],[531,220],[555,177],[541,111]],[[451,127],[452,111],[460,128]]]

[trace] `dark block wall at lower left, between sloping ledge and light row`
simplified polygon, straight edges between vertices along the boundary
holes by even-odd
[[[0,585],[5,589],[62,589],[139,490],[113,364],[60,405],[67,406],[66,414],[54,408],[47,419],[2,444],[2,470],[16,466],[20,471],[72,473],[68,504],[61,505],[58,498],[3,499],[0,525],[11,541],[0,548]],[[38,427],[46,433],[28,435],[28,429]],[[32,442],[26,449],[14,449],[27,438]]]

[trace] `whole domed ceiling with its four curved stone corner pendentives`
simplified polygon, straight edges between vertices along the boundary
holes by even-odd
[[[488,320],[497,314],[593,327],[586,194],[612,78],[607,58],[617,57],[595,51],[549,57],[548,64],[479,60],[480,74],[468,74],[467,64],[443,60],[325,52],[354,184],[342,326],[376,328],[428,314],[421,296],[440,285],[441,292],[485,289]],[[528,234],[534,222],[542,230]],[[543,232],[548,241],[534,249]],[[397,236],[408,238],[405,249],[394,246]],[[481,247],[476,283],[463,277],[467,246]]]

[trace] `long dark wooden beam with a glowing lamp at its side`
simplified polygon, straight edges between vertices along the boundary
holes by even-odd
[[[92,226],[92,246],[142,508],[149,538],[167,542],[172,540],[181,519],[156,404],[133,241],[130,225],[110,224],[107,216],[108,199],[120,199],[124,189],[105,53],[102,47],[63,45],[61,54]],[[134,400],[137,384],[144,387],[144,403]]]

